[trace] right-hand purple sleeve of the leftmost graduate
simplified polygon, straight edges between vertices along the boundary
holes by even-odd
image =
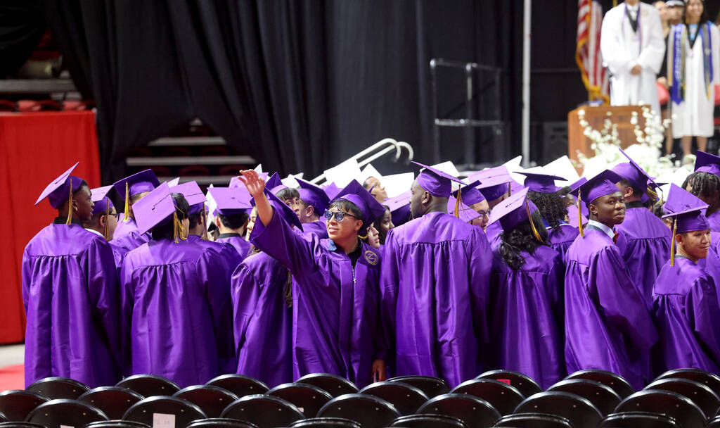
[[[122,316],[120,285],[117,283],[112,249],[104,239],[95,238],[83,257],[93,318],[99,320],[107,336],[109,349],[118,367],[122,368],[130,351],[130,324]]]

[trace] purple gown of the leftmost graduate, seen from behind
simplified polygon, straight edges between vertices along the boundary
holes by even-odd
[[[62,376],[114,385],[129,347],[112,249],[78,224],[51,224],[22,255],[25,385]]]

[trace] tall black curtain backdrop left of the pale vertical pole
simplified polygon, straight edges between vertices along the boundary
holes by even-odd
[[[480,103],[519,140],[521,0],[46,5],[73,79],[98,107],[104,182],[125,173],[132,146],[194,117],[283,174],[314,177],[387,136],[431,161],[434,57],[503,68],[503,97]],[[462,73],[439,84],[441,106],[456,110]],[[459,160],[459,141],[445,140],[443,157]]]

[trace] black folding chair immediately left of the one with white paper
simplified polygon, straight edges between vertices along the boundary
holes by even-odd
[[[67,398],[40,404],[27,415],[27,422],[40,424],[47,428],[60,428],[63,425],[84,427],[91,422],[107,420],[107,415],[95,406]]]

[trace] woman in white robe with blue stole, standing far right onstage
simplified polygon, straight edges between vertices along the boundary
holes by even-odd
[[[709,22],[702,0],[685,2],[685,17],[670,31],[667,80],[672,98],[672,136],[680,138],[683,156],[693,136],[706,151],[715,132],[715,84],[720,81],[720,31]]]

